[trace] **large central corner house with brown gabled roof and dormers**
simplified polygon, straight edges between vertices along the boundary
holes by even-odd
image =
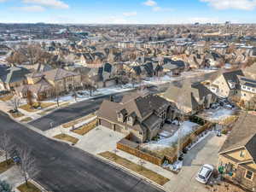
[[[137,143],[151,140],[162,128],[166,119],[173,119],[176,109],[160,96],[133,93],[121,102],[102,102],[97,113],[99,125],[122,133],[131,133]]]

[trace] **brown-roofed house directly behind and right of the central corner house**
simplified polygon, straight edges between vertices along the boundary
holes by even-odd
[[[171,84],[162,95],[167,101],[174,102],[183,113],[194,114],[217,102],[218,96],[201,83],[184,80],[183,84]]]

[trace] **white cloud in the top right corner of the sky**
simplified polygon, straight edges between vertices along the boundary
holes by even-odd
[[[253,10],[256,8],[256,0],[200,0],[206,2],[214,9],[241,9]]]

